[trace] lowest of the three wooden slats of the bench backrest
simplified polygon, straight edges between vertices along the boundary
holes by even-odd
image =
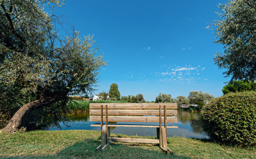
[[[177,123],[177,117],[166,117],[166,123]],[[103,116],[105,121],[105,117]],[[162,117],[162,120],[163,117]],[[90,115],[90,121],[101,121],[100,116]],[[152,122],[159,123],[159,117],[151,116],[109,116],[108,122]]]

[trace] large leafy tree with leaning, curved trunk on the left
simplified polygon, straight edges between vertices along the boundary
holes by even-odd
[[[91,36],[82,40],[76,31],[59,35],[59,19],[44,12],[54,4],[60,1],[0,0],[0,84],[32,96],[2,131],[17,131],[34,109],[90,93],[105,65]]]

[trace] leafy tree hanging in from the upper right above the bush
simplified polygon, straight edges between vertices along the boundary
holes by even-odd
[[[221,4],[221,20],[213,26],[218,44],[224,53],[214,57],[219,68],[225,68],[226,77],[255,81],[256,77],[256,1],[229,0]]]

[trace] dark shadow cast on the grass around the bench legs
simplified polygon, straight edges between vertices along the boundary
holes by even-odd
[[[107,148],[101,152],[96,152],[99,140],[87,139],[82,142],[61,150],[52,156],[17,156],[12,158],[186,158],[171,154],[164,154],[159,146],[154,144],[123,144],[111,142]]]

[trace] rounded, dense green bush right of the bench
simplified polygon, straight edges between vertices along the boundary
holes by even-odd
[[[256,91],[228,93],[201,111],[204,131],[225,144],[256,145]]]

